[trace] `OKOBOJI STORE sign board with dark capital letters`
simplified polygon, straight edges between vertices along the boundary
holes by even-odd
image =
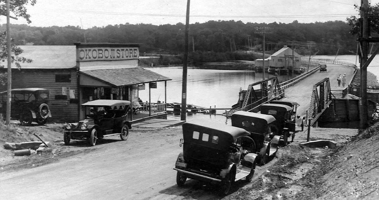
[[[138,59],[138,44],[75,43],[78,62]]]

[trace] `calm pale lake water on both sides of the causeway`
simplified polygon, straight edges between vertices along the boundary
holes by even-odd
[[[356,56],[340,55],[340,56],[314,56],[313,58],[322,58],[329,60],[344,61],[356,64]],[[359,60],[357,59],[357,62]],[[359,63],[356,64],[359,66]],[[182,102],[182,67],[151,67],[147,68],[153,72],[171,78],[167,81],[167,100],[166,102]],[[368,67],[368,70],[379,77],[379,56]],[[267,77],[274,75],[266,73]],[[289,75],[279,76],[279,81],[289,80]],[[262,80],[262,73],[254,73],[252,71],[240,70],[212,70],[188,68],[187,77],[187,103],[197,106],[209,108],[231,108],[238,101],[238,93],[240,89],[247,89],[249,84]],[[149,89],[139,91],[139,97],[144,101],[149,101]],[[164,100],[164,82],[158,82],[156,89],[151,89],[151,102]],[[218,111],[218,114],[224,111]],[[218,117],[222,123],[226,117],[203,115],[206,119]],[[197,115],[199,116],[199,114]]]

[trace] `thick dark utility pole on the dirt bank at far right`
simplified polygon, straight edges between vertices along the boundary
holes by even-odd
[[[360,7],[360,20],[361,23],[360,25],[362,26],[360,28],[361,33],[360,36],[361,38],[359,39],[361,43],[361,61],[360,61],[360,91],[362,94],[362,105],[361,105],[361,112],[360,112],[360,124],[359,127],[361,129],[366,128],[367,126],[367,113],[368,113],[368,108],[367,108],[367,52],[368,52],[368,37],[370,30],[368,29],[368,2],[367,0],[361,0],[361,7]]]

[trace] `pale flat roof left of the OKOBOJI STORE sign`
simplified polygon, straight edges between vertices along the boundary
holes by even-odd
[[[19,55],[32,59],[31,63],[21,63],[22,69],[69,69],[76,66],[75,45],[20,45]],[[12,68],[17,68],[12,64]]]

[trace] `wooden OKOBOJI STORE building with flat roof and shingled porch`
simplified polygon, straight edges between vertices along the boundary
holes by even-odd
[[[138,44],[75,43],[71,46],[20,46],[32,59],[12,65],[12,89],[50,89],[53,122],[84,118],[81,104],[96,99],[138,101],[138,90],[171,80],[139,67]],[[1,69],[6,72],[6,69]],[[166,84],[164,84],[166,86]],[[0,91],[5,91],[1,86]]]

